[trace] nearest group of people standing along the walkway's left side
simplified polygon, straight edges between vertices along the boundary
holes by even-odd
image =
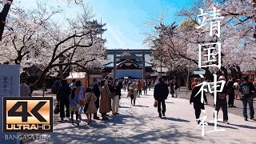
[[[60,105],[60,118],[70,118],[74,123],[73,115],[76,115],[75,122],[79,125],[82,114],[86,114],[88,124],[92,118],[99,119],[97,112],[102,114],[102,120],[108,119],[108,113],[119,114],[119,99],[121,98],[122,82],[116,79],[95,79],[92,88],[84,90],[82,83],[75,79],[69,84],[62,80],[58,87],[57,100]],[[111,103],[112,101],[112,103]],[[66,108],[66,110],[65,110]],[[66,111],[66,112],[65,112]]]

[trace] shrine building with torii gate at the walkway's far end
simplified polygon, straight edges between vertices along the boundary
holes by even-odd
[[[106,50],[105,74],[111,78],[150,78],[151,50]]]

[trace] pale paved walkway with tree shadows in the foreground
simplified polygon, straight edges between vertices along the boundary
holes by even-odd
[[[256,121],[245,122],[242,117],[229,114],[230,124],[218,122],[218,129],[224,132],[206,133],[202,137],[202,127],[194,118],[193,105],[184,98],[166,100],[166,118],[158,118],[154,108],[153,91],[137,99],[137,106],[130,106],[130,99],[123,92],[118,116],[110,116],[107,121],[97,120],[91,126],[82,121],[80,126],[69,122],[54,126],[51,142],[37,143],[256,143]],[[214,108],[206,106],[205,131],[214,130]],[[86,118],[83,115],[83,118]],[[222,112],[219,113],[222,118]],[[35,142],[31,142],[35,143]]]

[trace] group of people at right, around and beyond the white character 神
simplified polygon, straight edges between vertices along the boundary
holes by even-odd
[[[226,78],[224,76],[220,76],[218,78],[219,81],[225,81]],[[192,94],[190,96],[190,104],[193,102],[194,104],[194,110],[195,110],[195,116],[198,121],[198,124],[201,122],[199,120],[201,110],[204,110],[204,102],[208,104],[206,93],[202,94],[201,85],[199,85],[202,82],[201,78],[195,78],[194,82],[192,82]],[[249,82],[249,77],[244,76],[242,80],[230,78],[228,82],[223,87],[223,90],[221,92],[217,92],[217,98],[216,98],[216,105],[215,110],[218,111],[220,108],[222,108],[223,112],[223,122],[229,124],[228,122],[228,106],[230,108],[236,107],[234,106],[234,99],[241,100],[242,106],[243,106],[243,116],[245,121],[248,121],[248,115],[247,115],[247,104],[249,105],[250,109],[250,119],[254,118],[254,106],[253,106],[253,98],[255,95],[255,87],[256,87],[256,79],[254,82]],[[217,90],[220,90],[220,86],[217,87]],[[203,97],[204,102],[201,102],[201,98]],[[228,100],[227,100],[228,97]]]

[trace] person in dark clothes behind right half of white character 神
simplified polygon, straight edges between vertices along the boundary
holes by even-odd
[[[218,78],[219,81],[224,81],[225,77],[224,76],[220,76]],[[220,90],[220,86],[218,86],[217,90]],[[218,115],[218,111],[220,110],[220,108],[222,108],[222,112],[223,112],[223,122],[226,124],[229,124],[228,122],[228,113],[227,113],[227,102],[226,102],[226,95],[227,95],[227,86],[226,84],[223,87],[222,92],[218,92],[217,93],[217,99],[216,99],[216,105],[215,105],[215,110],[217,111],[217,115]]]

